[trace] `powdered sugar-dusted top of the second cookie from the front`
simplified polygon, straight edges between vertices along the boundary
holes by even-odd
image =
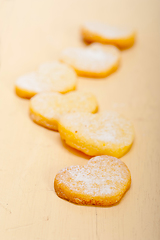
[[[133,140],[132,124],[116,112],[67,114],[61,119],[61,123],[86,140],[104,142],[104,147],[111,147],[112,144],[126,145]]]

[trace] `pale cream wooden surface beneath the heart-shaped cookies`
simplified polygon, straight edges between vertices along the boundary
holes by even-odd
[[[137,42],[122,52],[106,79],[79,78],[100,111],[116,110],[135,127],[135,142],[121,158],[132,185],[112,207],[78,206],[57,197],[53,179],[63,167],[85,164],[57,132],[34,124],[28,101],[14,93],[17,77],[57,59],[67,46],[84,45],[86,20],[132,26]],[[160,1],[0,1],[0,239],[160,239]]]

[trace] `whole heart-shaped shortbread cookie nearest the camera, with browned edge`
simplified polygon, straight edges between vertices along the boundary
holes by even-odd
[[[56,175],[57,195],[72,203],[109,206],[129,189],[131,174],[121,160],[109,156],[91,158],[84,166],[71,166]]]

